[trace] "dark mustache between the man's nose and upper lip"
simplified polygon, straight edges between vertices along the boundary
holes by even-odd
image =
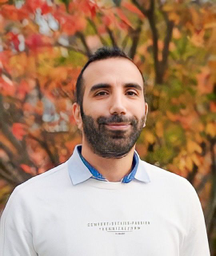
[[[134,117],[126,117],[126,116],[122,116],[122,115],[113,115],[110,117],[99,117],[97,119],[98,125],[106,125],[109,123],[121,123],[121,122],[126,122],[126,123],[130,123],[132,126],[137,124],[138,120]]]

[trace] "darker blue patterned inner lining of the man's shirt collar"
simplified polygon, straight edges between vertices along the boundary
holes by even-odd
[[[78,154],[79,154],[80,158],[82,159],[82,162],[90,170],[90,173],[92,174],[91,178],[96,178],[98,180],[108,182],[108,180],[106,178],[104,178],[102,176],[102,174],[100,174],[98,172],[98,170],[96,170],[93,166],[90,165],[89,162],[86,161],[85,158],[83,158],[83,156],[81,154],[82,146],[79,145],[77,147],[77,149],[78,149]],[[133,162],[132,162],[132,170],[130,171],[130,174],[127,174],[124,178],[122,178],[122,183],[129,183],[129,182],[131,182],[134,179],[134,176],[135,176],[135,174],[137,172],[137,169],[138,169],[138,156],[137,156],[136,153],[134,153],[134,158],[133,158]]]

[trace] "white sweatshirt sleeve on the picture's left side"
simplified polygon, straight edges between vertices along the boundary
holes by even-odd
[[[1,256],[37,256],[25,198],[17,188],[10,195],[0,220]]]

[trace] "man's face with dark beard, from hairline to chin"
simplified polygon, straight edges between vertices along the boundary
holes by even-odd
[[[103,158],[125,156],[147,114],[142,75],[126,58],[108,58],[90,63],[83,79],[82,144]]]

